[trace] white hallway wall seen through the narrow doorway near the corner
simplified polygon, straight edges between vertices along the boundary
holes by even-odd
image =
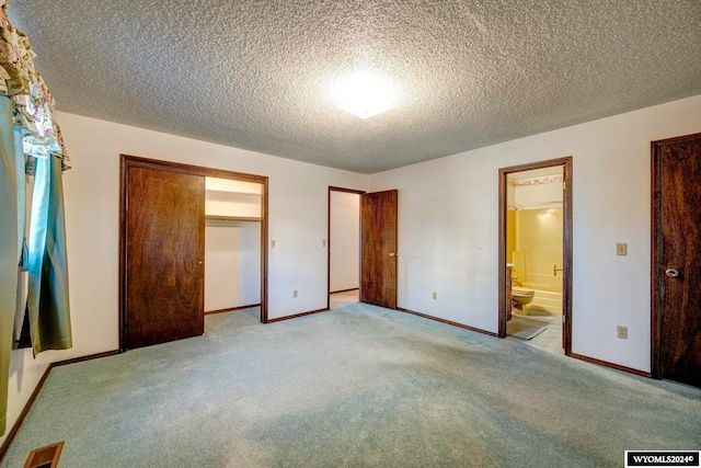
[[[360,276],[360,195],[331,192],[331,292],[358,287]]]

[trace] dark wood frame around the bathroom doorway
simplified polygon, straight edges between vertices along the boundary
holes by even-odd
[[[563,230],[562,230],[562,315],[565,355],[572,355],[572,156],[529,162],[499,169],[499,236],[498,236],[498,336],[506,338],[506,199],[507,175],[514,172],[562,165],[563,175]]]

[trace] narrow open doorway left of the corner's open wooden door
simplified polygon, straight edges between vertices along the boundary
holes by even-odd
[[[359,300],[360,197],[364,193],[329,187],[329,309]]]

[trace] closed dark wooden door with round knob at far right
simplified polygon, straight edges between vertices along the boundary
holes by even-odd
[[[653,346],[659,346],[654,374],[700,387],[701,134],[654,142],[653,158]]]

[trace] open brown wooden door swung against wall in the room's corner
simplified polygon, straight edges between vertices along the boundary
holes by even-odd
[[[397,308],[397,191],[360,197],[360,301]]]

